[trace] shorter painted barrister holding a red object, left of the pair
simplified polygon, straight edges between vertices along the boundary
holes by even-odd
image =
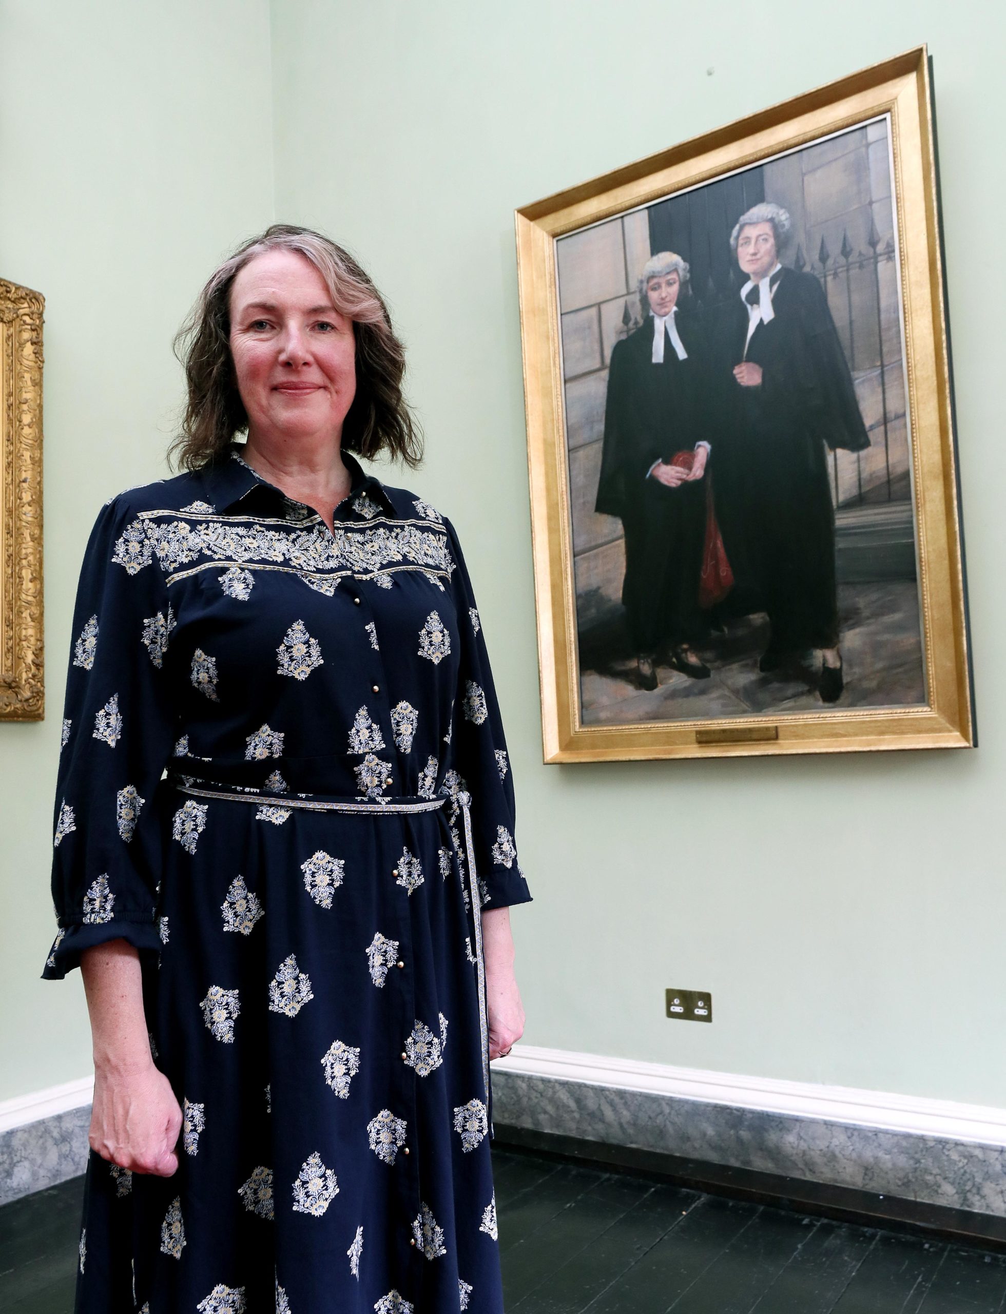
[[[625,530],[623,606],[644,689],[657,687],[658,654],[696,679],[709,675],[691,646],[704,633],[708,347],[696,313],[678,301],[687,279],[674,252],[647,261],[640,302],[649,313],[616,343],[608,373],[596,510]],[[693,452],[691,470],[671,464],[679,452]]]

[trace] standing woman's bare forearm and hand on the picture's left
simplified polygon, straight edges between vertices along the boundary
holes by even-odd
[[[109,940],[84,950],[80,972],[95,1047],[91,1148],[120,1168],[169,1177],[179,1167],[181,1109],[151,1058],[139,954]]]

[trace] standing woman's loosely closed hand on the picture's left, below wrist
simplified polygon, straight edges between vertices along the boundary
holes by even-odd
[[[171,1083],[152,1060],[138,1070],[96,1071],[88,1142],[102,1159],[171,1177],[179,1167],[181,1122]]]

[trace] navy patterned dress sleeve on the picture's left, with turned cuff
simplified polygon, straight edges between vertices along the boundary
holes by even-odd
[[[160,949],[152,800],[175,727],[173,627],[163,572],[123,494],[95,524],[77,587],[53,837],[59,929],[45,978],[66,976],[108,940]]]

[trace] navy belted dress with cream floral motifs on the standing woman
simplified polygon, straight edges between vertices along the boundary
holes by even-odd
[[[179,1171],[92,1152],[76,1310],[496,1314],[477,909],[531,896],[452,526],[335,532],[232,448],[106,505],[74,622],[45,975],[122,937]]]

